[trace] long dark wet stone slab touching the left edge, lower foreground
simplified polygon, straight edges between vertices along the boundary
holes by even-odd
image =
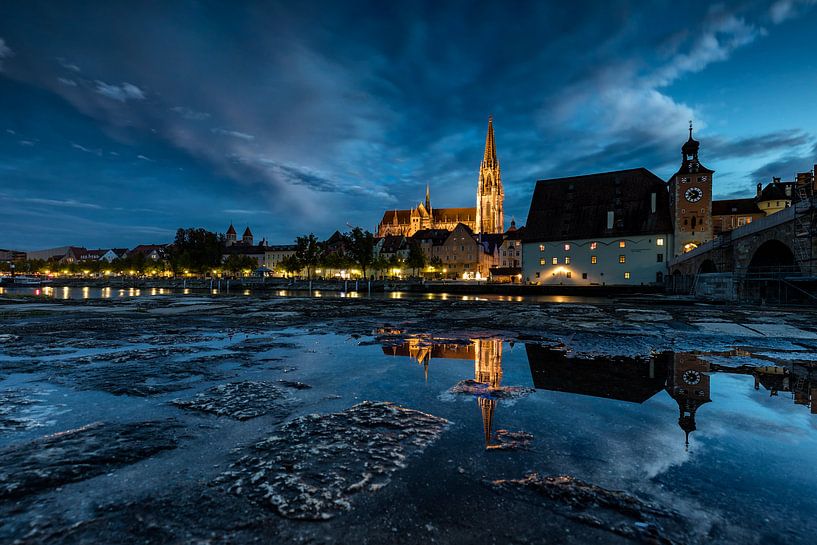
[[[0,499],[88,479],[176,448],[174,420],[96,422],[0,450]]]

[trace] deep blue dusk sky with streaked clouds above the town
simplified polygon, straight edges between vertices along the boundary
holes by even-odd
[[[817,163],[817,0],[0,3],[0,248],[289,243],[646,167],[716,198]]]

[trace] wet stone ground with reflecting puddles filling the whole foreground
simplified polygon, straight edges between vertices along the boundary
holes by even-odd
[[[811,543],[817,310],[0,297],[0,543]]]

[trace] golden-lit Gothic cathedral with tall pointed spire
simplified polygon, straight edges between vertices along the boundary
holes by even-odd
[[[488,134],[485,137],[485,153],[479,169],[477,206],[475,208],[434,208],[431,206],[430,188],[426,186],[426,199],[415,208],[387,210],[377,226],[377,236],[403,235],[410,237],[422,229],[445,229],[453,231],[462,223],[474,233],[504,233],[505,218],[502,203],[505,192],[496,157],[493,118],[488,118]]]

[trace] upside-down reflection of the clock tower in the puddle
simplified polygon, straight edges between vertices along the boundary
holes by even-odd
[[[695,413],[698,407],[712,401],[709,398],[709,363],[693,354],[672,354],[672,369],[667,380],[667,392],[678,403],[678,425],[686,435],[697,429]]]

